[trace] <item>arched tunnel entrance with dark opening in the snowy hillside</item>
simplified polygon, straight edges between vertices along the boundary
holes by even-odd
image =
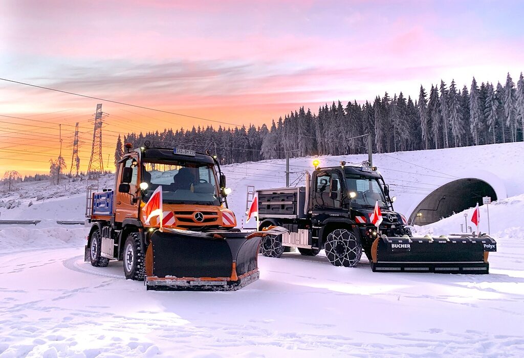
[[[484,196],[491,197],[492,201],[507,197],[500,178],[484,171],[476,174],[479,175],[457,178],[431,192],[411,210],[410,225],[428,225],[477,203],[481,206]]]

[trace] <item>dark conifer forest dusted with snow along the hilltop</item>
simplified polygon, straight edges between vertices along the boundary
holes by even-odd
[[[368,133],[376,153],[477,146],[523,140],[524,77],[515,84],[478,83],[462,88],[451,81],[420,86],[417,98],[385,93],[365,103],[339,101],[316,113],[300,107],[259,127],[165,129],[127,133],[118,138],[115,162],[123,142],[134,147],[210,150],[223,164],[282,159],[291,156],[367,153]]]

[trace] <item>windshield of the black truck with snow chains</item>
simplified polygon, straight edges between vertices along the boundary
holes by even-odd
[[[346,176],[348,195],[354,192],[356,196],[351,200],[351,204],[361,206],[375,206],[378,200],[380,207],[387,208],[386,199],[379,182],[375,178],[365,176]]]

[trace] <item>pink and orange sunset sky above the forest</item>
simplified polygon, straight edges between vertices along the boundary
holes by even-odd
[[[237,125],[524,70],[522,1],[4,0],[0,11],[4,79]],[[218,126],[0,81],[0,172],[47,173],[58,124],[69,166],[75,122],[85,170],[97,103],[109,169],[118,133]]]

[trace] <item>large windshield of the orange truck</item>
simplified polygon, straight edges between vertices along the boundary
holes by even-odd
[[[143,182],[148,184],[143,201],[162,186],[162,201],[166,204],[220,205],[213,165],[203,163],[155,162],[143,164]]]

